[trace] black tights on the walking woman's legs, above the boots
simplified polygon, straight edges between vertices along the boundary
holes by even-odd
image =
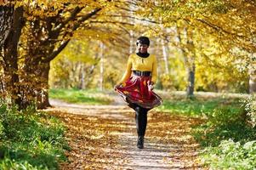
[[[136,122],[136,128],[138,136],[145,136],[145,129],[146,129],[146,123],[147,123],[147,112],[148,109],[145,109],[139,105],[129,105],[131,108],[135,111],[135,122]]]

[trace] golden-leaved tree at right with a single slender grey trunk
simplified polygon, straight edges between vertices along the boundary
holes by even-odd
[[[253,1],[156,0],[148,3],[141,2],[140,5],[143,8],[138,12],[139,15],[160,21],[166,30],[173,30],[169,33],[164,29],[156,28],[163,30],[161,36],[168,37],[169,45],[179,48],[179,53],[184,56],[188,70],[188,95],[191,95],[194,90],[192,88],[196,81],[194,77],[200,74],[196,74],[196,63],[198,64],[202,57],[204,59],[201,61],[207,63],[217,64],[226,60],[225,65],[222,66],[228,68],[232,65],[230,71],[224,68],[230,75],[233,72],[239,72],[238,70],[240,75],[244,75],[248,70],[247,65],[253,63],[256,28]],[[144,10],[145,8],[147,10]],[[208,58],[211,60],[209,61]],[[216,62],[212,62],[212,59]]]

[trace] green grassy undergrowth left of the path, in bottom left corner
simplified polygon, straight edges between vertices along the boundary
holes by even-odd
[[[0,104],[0,169],[58,169],[65,161],[64,127],[33,107]]]

